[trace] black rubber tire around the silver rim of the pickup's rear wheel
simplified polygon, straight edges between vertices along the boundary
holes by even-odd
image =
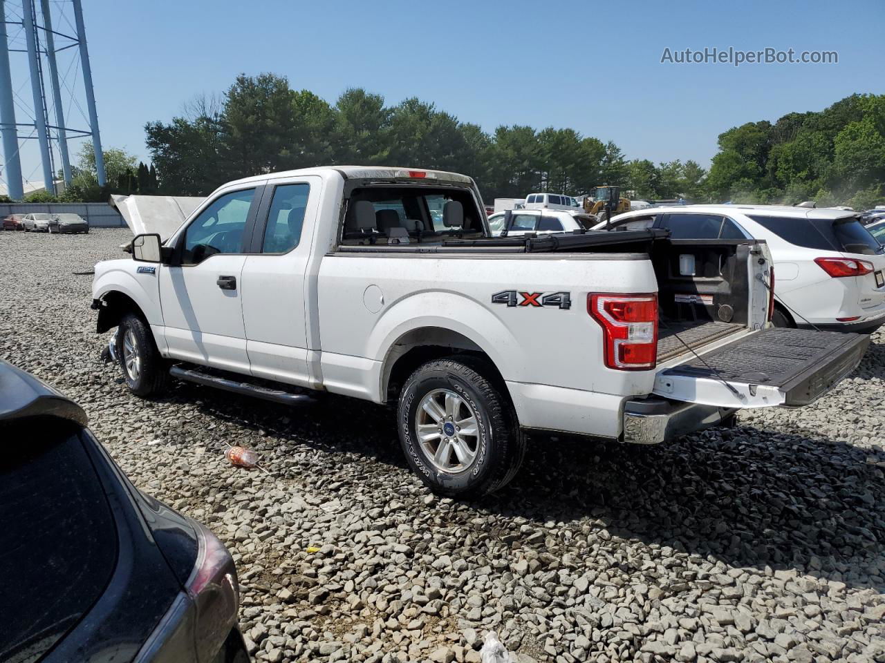
[[[526,453],[526,437],[519,429],[504,385],[496,385],[486,377],[489,375],[492,371],[488,364],[474,357],[440,359],[420,366],[400,392],[396,408],[400,444],[409,465],[433,492],[446,497],[478,498],[503,488],[519,471]],[[438,468],[417,437],[419,405],[438,390],[456,394],[472,410],[477,423],[473,461],[454,472]]]

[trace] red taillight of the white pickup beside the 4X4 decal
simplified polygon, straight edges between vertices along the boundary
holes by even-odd
[[[587,312],[602,325],[605,365],[649,370],[658,362],[658,295],[589,294]]]

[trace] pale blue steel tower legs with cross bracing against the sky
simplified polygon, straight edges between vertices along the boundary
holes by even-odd
[[[16,54],[27,57],[27,70],[15,61]],[[27,82],[30,100],[20,94]],[[81,117],[68,126],[74,108]],[[17,121],[17,111],[19,120],[28,121]],[[76,128],[78,125],[89,128]],[[92,138],[98,184],[104,187],[104,154],[81,0],[0,0],[0,137],[4,155],[0,180],[13,200],[24,197],[21,155],[27,141],[34,139],[39,160],[35,171],[42,170],[50,194],[56,193],[57,159],[65,186],[71,184],[68,141],[85,137]]]

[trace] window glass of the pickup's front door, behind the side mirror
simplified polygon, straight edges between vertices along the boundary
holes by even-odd
[[[202,263],[217,253],[242,253],[242,233],[255,189],[232,191],[216,198],[184,232],[182,264]]]

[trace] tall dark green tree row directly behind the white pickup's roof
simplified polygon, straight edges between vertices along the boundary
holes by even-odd
[[[350,88],[334,104],[272,73],[241,75],[221,97],[145,126],[160,191],[204,195],[220,183],[318,164],[412,165],[476,179],[483,197],[531,191],[582,194],[602,184],[651,198],[701,194],[695,162],[627,162],[612,141],[565,128],[498,126],[493,133],[412,97]]]

